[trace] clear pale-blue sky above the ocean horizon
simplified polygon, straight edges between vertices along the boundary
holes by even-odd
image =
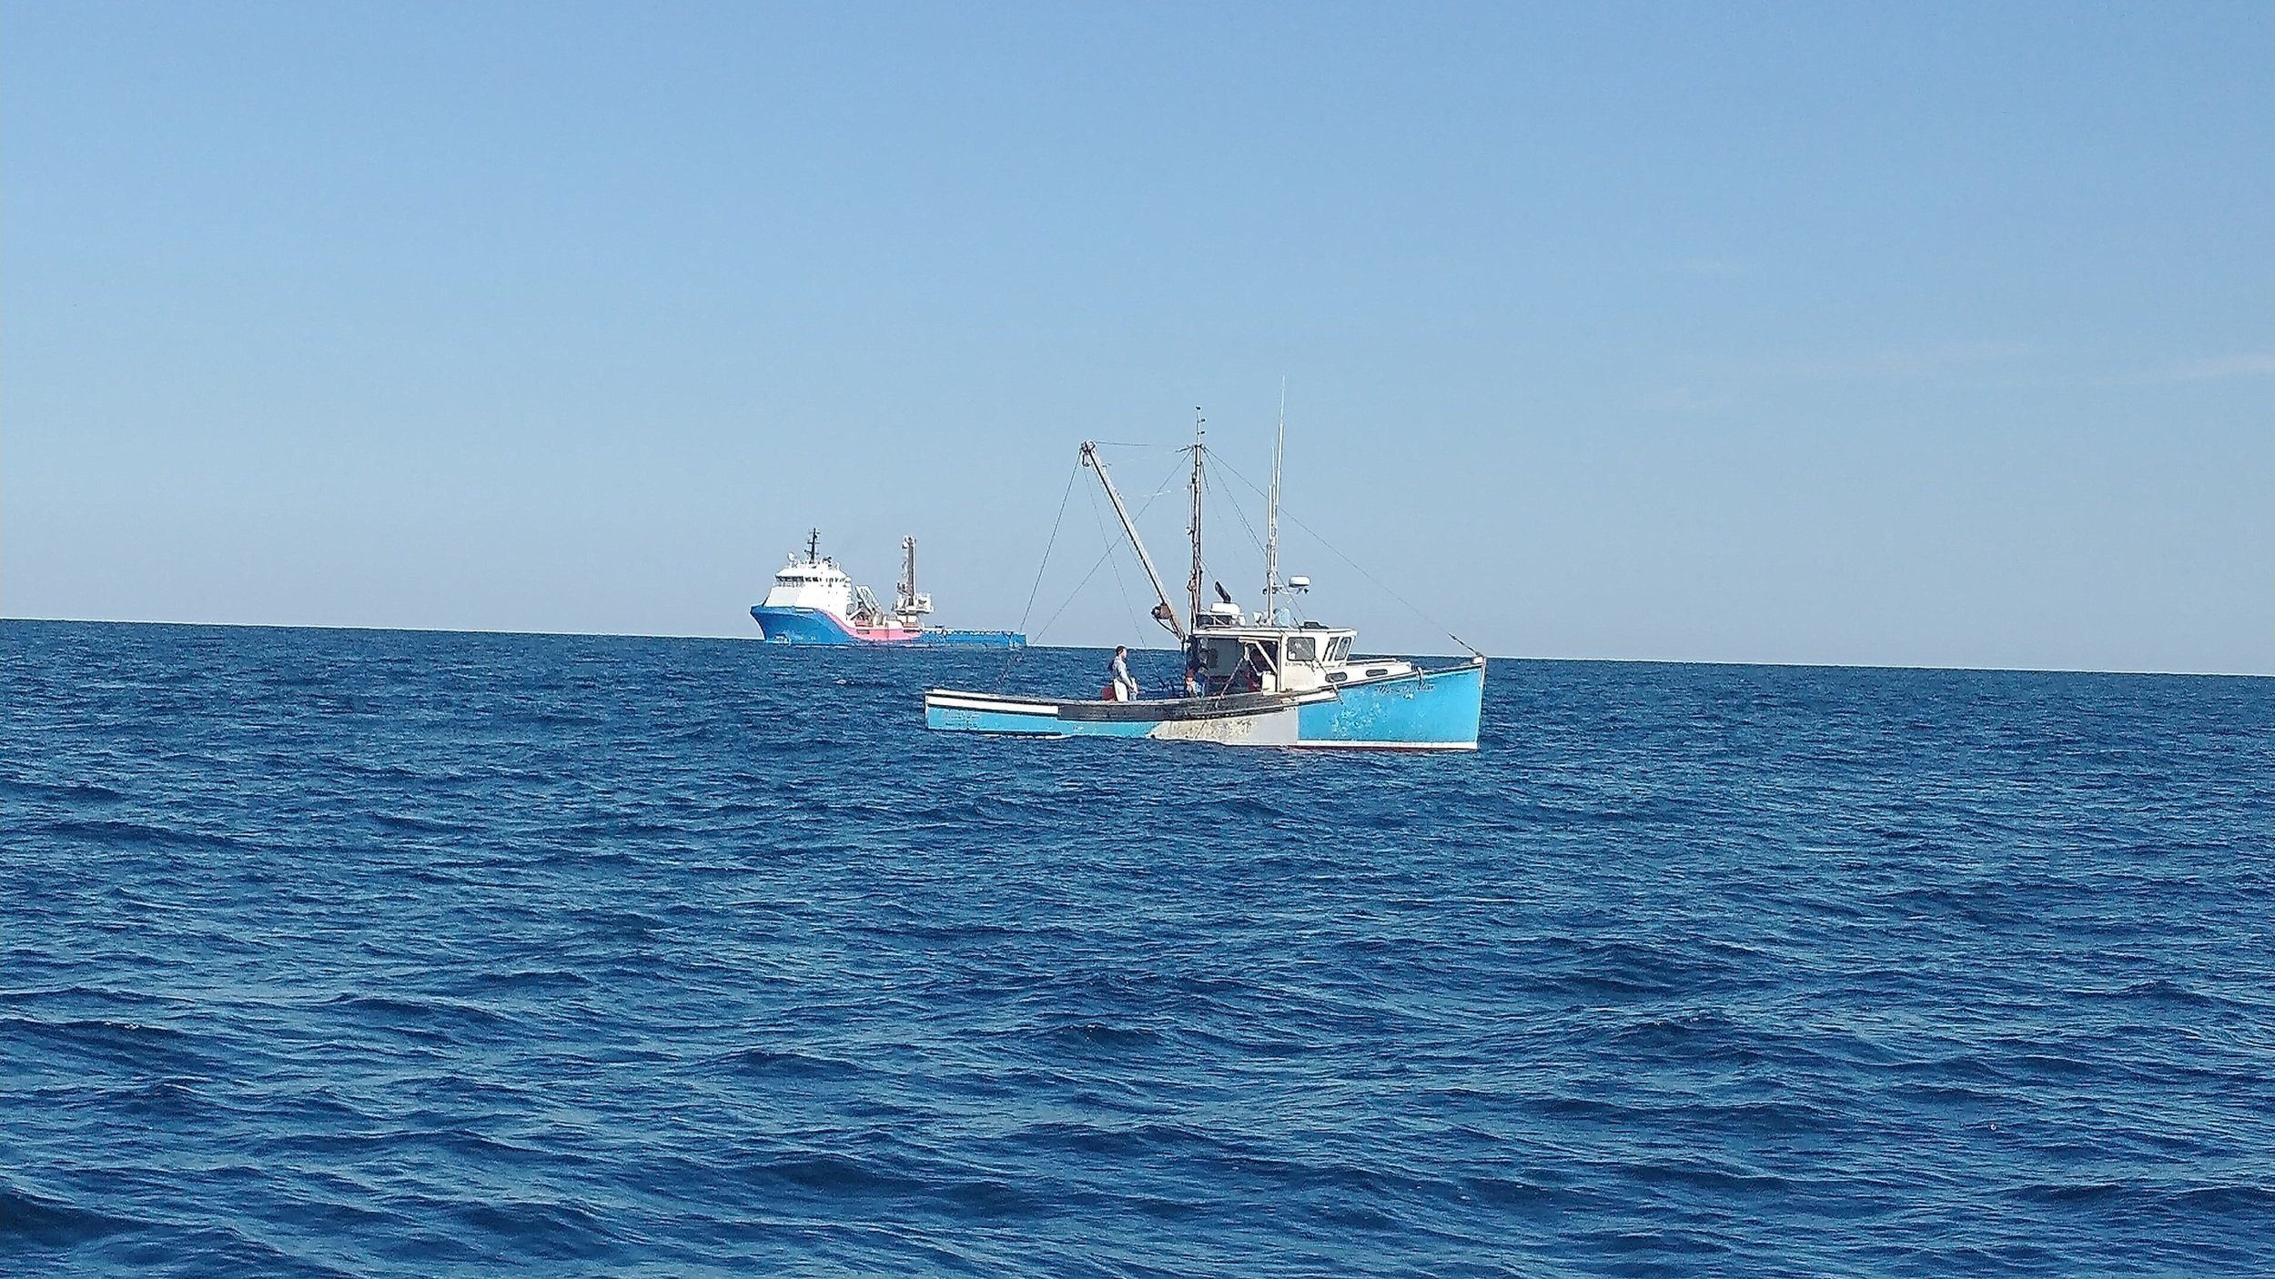
[[[1078,439],[1206,405],[1260,478],[1285,376],[1288,508],[1492,653],[2270,671],[2270,50],[2257,2],[7,5],[0,612],[751,635],[819,523],[1006,626]],[[1101,574],[1044,640],[1126,619]]]

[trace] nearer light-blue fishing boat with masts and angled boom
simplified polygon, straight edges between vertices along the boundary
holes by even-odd
[[[1285,426],[1281,428],[1285,442]],[[1201,428],[1192,442],[1192,574],[1190,610],[1178,617],[1153,558],[1115,489],[1094,444],[1081,464],[1097,473],[1108,505],[1158,599],[1153,619],[1185,653],[1183,696],[1165,699],[1044,699],[1001,692],[930,690],[924,726],[951,733],[1026,737],[1156,737],[1226,746],[1333,746],[1383,751],[1474,751],[1486,699],[1486,655],[1426,667],[1406,658],[1354,655],[1358,633],[1297,619],[1294,601],[1308,589],[1301,576],[1279,576],[1279,446],[1265,498],[1263,608],[1242,610],[1217,583],[1203,605],[1201,492],[1208,451]],[[1108,694],[1115,690],[1108,687]]]

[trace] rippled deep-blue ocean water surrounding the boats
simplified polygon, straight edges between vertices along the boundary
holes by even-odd
[[[999,671],[0,626],[0,1272],[2275,1274],[2275,680]]]

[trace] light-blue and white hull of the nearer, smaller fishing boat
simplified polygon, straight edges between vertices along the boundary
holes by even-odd
[[[1474,660],[1292,694],[1049,701],[933,690],[924,694],[924,726],[1017,737],[1474,751],[1483,703],[1486,662]]]

